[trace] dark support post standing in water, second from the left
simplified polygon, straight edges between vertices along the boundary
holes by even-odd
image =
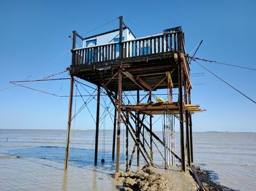
[[[95,153],[94,153],[94,165],[97,165],[97,160],[98,160],[98,142],[99,142],[99,104],[100,104],[100,86],[98,85],[98,92],[97,92],[97,114],[96,114],[96,132],[95,132]]]

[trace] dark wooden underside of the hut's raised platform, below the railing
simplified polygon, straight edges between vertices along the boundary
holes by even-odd
[[[182,57],[183,55],[183,57]],[[165,52],[154,55],[144,55],[133,58],[123,58],[122,61],[105,61],[91,66],[78,64],[69,68],[71,74],[95,85],[102,85],[108,81],[108,88],[112,91],[118,89],[116,72],[121,69],[124,72],[122,90],[157,90],[167,88],[166,71],[170,71],[173,87],[178,87],[178,53]],[[187,71],[184,54],[181,53],[181,62]],[[189,83],[191,84],[190,80]]]

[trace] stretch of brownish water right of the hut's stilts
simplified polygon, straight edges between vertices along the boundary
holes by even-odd
[[[195,163],[237,190],[256,189],[256,133],[195,133]]]

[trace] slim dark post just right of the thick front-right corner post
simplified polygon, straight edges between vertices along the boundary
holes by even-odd
[[[187,104],[187,82],[186,77],[184,77],[184,98],[185,98],[185,104]],[[189,112],[185,111],[185,117],[186,117],[186,145],[187,145],[187,163],[189,166],[191,166],[191,160],[190,160],[190,142],[189,142]]]

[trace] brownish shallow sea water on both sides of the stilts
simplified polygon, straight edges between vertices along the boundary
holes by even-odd
[[[69,171],[64,174],[65,130],[0,130],[1,190],[118,190],[110,176],[116,168],[111,161],[112,133],[106,130],[103,142],[100,131],[99,165],[94,168],[94,130],[73,130]],[[122,131],[122,162],[124,141]],[[131,150],[132,140],[129,142]],[[233,189],[255,190],[256,133],[194,133],[194,148],[194,162],[217,173],[212,174],[217,182]],[[156,148],[154,160],[163,164]],[[124,170],[124,164],[121,168]]]

